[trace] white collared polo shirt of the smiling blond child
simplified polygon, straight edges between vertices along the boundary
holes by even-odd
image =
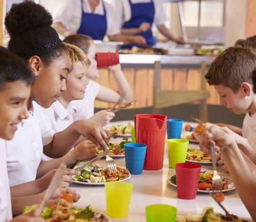
[[[69,104],[67,109],[63,105],[56,101],[48,109],[42,108],[45,115],[49,119],[52,129],[55,132],[60,132],[65,130],[69,125],[73,124],[73,114],[76,112],[72,104]],[[52,158],[43,154],[42,161],[51,160]]]

